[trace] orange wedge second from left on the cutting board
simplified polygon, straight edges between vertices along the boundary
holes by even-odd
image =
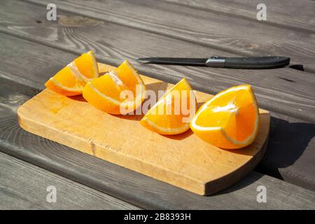
[[[146,98],[146,86],[126,60],[118,68],[88,82],[83,97],[92,106],[113,114],[127,114]]]

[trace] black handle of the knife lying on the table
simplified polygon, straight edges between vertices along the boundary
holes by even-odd
[[[227,69],[275,69],[290,63],[290,57],[210,57],[206,65]]]

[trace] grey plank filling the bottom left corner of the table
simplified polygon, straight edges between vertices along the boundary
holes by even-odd
[[[139,209],[28,162],[0,153],[0,209]],[[46,201],[55,186],[57,201]]]

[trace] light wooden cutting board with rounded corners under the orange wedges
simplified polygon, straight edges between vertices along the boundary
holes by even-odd
[[[99,64],[100,73],[112,69]],[[172,86],[141,77],[148,90]],[[196,97],[201,104],[212,96],[196,92]],[[50,90],[18,109],[20,126],[28,132],[199,195],[216,193],[239,181],[258,164],[267,146],[270,118],[262,109],[258,137],[238,150],[211,146],[191,130],[162,136],[142,127],[141,118],[113,116],[90,106],[82,96],[65,97]]]

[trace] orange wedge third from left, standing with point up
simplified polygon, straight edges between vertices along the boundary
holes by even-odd
[[[140,123],[158,134],[181,134],[189,130],[196,108],[195,94],[183,78],[159,99]]]

